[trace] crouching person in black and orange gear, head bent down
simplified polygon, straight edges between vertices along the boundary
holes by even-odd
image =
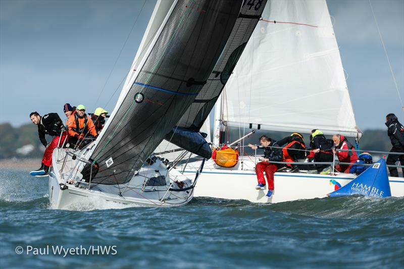
[[[306,158],[306,145],[303,141],[303,136],[300,133],[292,133],[290,136],[286,136],[277,142],[278,145],[287,145],[282,149],[283,162],[298,162],[299,159],[303,162]],[[289,168],[292,168],[291,172],[297,172],[298,166],[287,164]]]

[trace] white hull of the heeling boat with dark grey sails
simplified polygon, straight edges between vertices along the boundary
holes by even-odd
[[[193,188],[188,189],[193,181],[174,169],[168,171],[160,160],[144,166],[127,184],[91,184],[88,188],[88,183],[80,180],[80,173],[71,173],[82,169],[80,164],[76,166],[78,160],[72,160],[68,156],[63,166],[65,152],[66,149],[55,149],[53,167],[49,172],[49,201],[53,209],[179,206],[188,203],[193,197]],[[164,183],[150,184],[150,181],[145,180],[155,178],[156,170],[164,176]],[[74,179],[74,183],[65,184],[69,179]],[[180,188],[173,181],[180,181],[184,186]]]

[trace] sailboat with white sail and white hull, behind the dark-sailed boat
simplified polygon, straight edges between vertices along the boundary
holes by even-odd
[[[268,2],[221,98],[215,108],[215,147],[223,128],[238,129],[240,137],[252,130],[310,134],[312,129],[355,139],[362,135],[325,0]],[[257,155],[246,154],[232,168],[207,160],[194,195],[272,203],[322,198],[356,177],[275,173],[275,190],[269,198],[267,190],[254,188],[258,162]],[[192,165],[198,164],[177,168],[190,176]],[[389,183],[392,196],[404,196],[403,178],[390,177]]]

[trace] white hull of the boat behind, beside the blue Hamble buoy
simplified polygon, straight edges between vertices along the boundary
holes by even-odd
[[[196,165],[193,163],[192,165]],[[266,196],[267,189],[256,190],[257,176],[254,171],[254,161],[243,159],[245,169],[218,168],[213,160],[206,162],[203,172],[195,187],[194,196],[206,196],[222,199],[244,199],[259,203],[278,203],[299,199],[313,199],[327,197],[334,191],[335,185],[330,180],[335,180],[341,186],[346,185],[355,175],[319,175],[307,173],[275,173],[274,193],[271,198]],[[190,168],[190,164],[187,168]],[[180,167],[178,167],[180,170]],[[184,174],[190,176],[192,171],[186,169]],[[391,195],[404,196],[404,179],[389,177]]]

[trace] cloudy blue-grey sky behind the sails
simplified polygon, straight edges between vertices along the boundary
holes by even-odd
[[[404,1],[327,1],[361,130],[404,122]],[[155,1],[0,0],[0,123],[63,104],[112,112]],[[63,116],[63,117],[62,117]]]

